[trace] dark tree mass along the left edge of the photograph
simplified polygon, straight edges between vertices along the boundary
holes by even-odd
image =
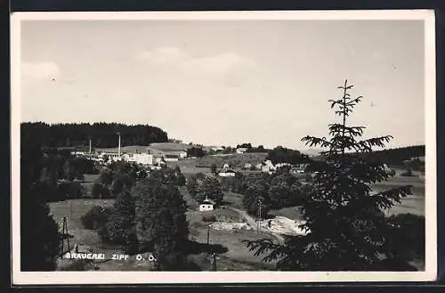
[[[56,269],[60,252],[59,227],[42,196],[47,191],[41,172],[44,157],[39,147],[23,145],[20,158],[20,271]]]

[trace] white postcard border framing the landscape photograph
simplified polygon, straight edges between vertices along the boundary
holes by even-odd
[[[27,20],[425,20],[425,272],[20,272],[20,23]],[[12,284],[434,281],[437,273],[433,11],[14,12],[11,16]]]

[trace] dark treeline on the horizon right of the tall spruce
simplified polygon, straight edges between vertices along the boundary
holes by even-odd
[[[425,156],[425,145],[409,146],[366,154],[367,159],[390,166],[403,166],[403,161]]]

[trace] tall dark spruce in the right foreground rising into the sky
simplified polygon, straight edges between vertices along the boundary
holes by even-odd
[[[377,271],[391,270],[386,242],[388,220],[384,209],[410,194],[410,186],[401,186],[373,194],[370,183],[387,180],[384,166],[368,162],[360,153],[384,147],[391,135],[359,140],[364,126],[348,126],[346,119],[360,102],[348,91],[352,85],[340,86],[343,97],[329,102],[342,118],[328,126],[330,138],[312,136],[302,141],[327,149],[314,176],[313,191],[301,208],[306,220],[305,235],[289,238],[284,245],[271,240],[246,241],[256,255],[270,252],[265,261],[278,260],[281,270],[305,271]],[[382,260],[382,257],[385,259]],[[389,260],[389,261],[388,261]],[[386,264],[386,265],[384,265]]]

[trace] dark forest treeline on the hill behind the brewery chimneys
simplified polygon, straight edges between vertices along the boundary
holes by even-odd
[[[149,145],[151,142],[167,142],[165,131],[155,126],[128,126],[118,123],[69,123],[49,125],[44,122],[21,124],[21,142],[42,147],[89,146],[91,137],[93,148],[117,147],[117,133],[121,134],[121,144]]]

